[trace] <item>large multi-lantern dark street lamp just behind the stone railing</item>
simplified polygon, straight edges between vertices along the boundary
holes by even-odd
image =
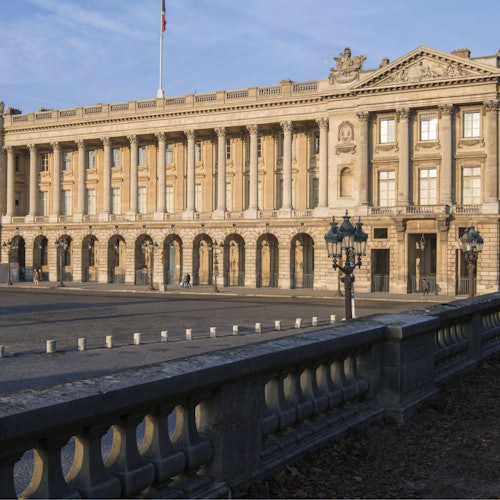
[[[361,257],[366,255],[366,240],[368,235],[363,231],[363,224],[359,218],[354,227],[350,222],[349,213],[346,210],[344,221],[338,227],[335,217],[330,223],[330,231],[325,234],[326,249],[328,257],[332,259],[333,269],[340,269],[344,276],[342,282],[345,287],[345,317],[352,319],[352,283],[355,276],[352,274],[356,267],[361,267]],[[344,265],[340,259],[342,252],[345,253]]]

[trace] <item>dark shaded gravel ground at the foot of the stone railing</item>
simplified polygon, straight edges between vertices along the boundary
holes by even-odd
[[[500,353],[411,421],[350,432],[233,498],[500,498]]]

